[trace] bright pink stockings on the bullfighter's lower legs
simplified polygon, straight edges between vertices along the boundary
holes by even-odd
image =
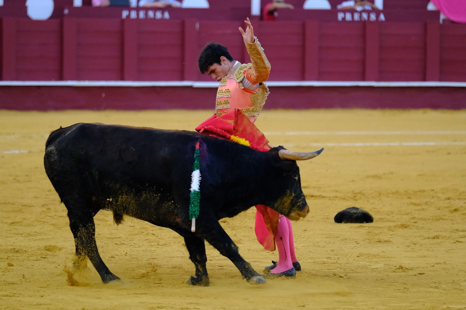
[[[278,249],[278,262],[277,267],[270,270],[270,273],[280,273],[293,268],[293,263],[297,262],[293,228],[291,221],[283,215],[280,215],[278,221],[275,244]]]

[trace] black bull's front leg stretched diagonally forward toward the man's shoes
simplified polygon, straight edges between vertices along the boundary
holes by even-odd
[[[217,220],[208,222],[208,224],[206,223],[206,226],[203,226],[201,221],[199,222],[200,223],[197,225],[197,227],[199,227],[199,231],[196,231],[198,235],[204,237],[207,242],[220,252],[220,254],[230,259],[236,268],[240,270],[241,275],[243,278],[246,278],[248,283],[266,283],[265,279],[253,269],[251,264],[241,257],[238,251],[238,246],[234,244],[233,240],[228,236],[226,231],[223,230]],[[208,227],[208,229],[205,227]]]

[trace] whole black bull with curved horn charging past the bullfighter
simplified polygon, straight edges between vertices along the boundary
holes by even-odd
[[[198,141],[201,199],[192,232],[189,194]],[[265,280],[240,256],[218,221],[256,204],[291,219],[307,215],[298,165],[282,159],[283,152],[291,151],[275,147],[259,152],[197,132],[80,123],[50,134],[44,166],[68,210],[76,256],[82,262],[89,257],[104,283],[119,277],[97,251],[94,216],[103,209],[113,211],[117,224],[129,215],[184,237],[196,270],[188,284],[209,284],[204,240],[228,257],[249,283],[259,284]]]

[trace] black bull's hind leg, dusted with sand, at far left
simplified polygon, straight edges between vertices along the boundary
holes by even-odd
[[[68,211],[69,227],[75,238],[76,256],[78,259],[83,255],[89,257],[89,261],[96,268],[103,283],[120,280],[110,272],[97,251],[94,215],[92,213],[76,215]]]

